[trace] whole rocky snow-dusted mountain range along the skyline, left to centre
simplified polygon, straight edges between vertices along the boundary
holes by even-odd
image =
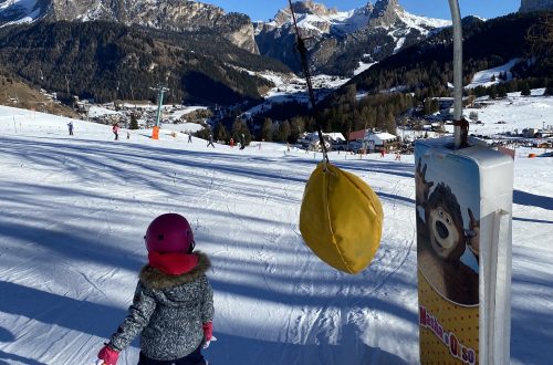
[[[398,0],[377,0],[349,11],[328,9],[313,0],[292,4],[302,36],[310,38],[310,60],[315,73],[353,75],[361,63],[384,60],[417,43],[447,20],[418,17]],[[52,20],[108,20],[165,31],[215,32],[251,52],[282,61],[299,71],[295,33],[290,9],[270,22],[252,24],[250,18],[226,13],[198,1],[179,0],[0,0],[0,27]]]

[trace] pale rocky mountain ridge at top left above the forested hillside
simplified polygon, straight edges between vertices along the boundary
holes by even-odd
[[[108,20],[157,30],[202,31],[209,29],[233,44],[258,53],[253,25],[248,15],[226,13],[221,8],[179,0],[0,0],[0,27],[38,19]]]

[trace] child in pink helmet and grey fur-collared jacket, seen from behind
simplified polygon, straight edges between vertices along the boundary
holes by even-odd
[[[212,336],[213,292],[206,277],[208,257],[192,252],[190,225],[166,213],[144,237],[148,264],[140,273],[127,317],[98,353],[98,364],[115,365],[119,352],[140,334],[138,365],[207,365],[201,348]]]

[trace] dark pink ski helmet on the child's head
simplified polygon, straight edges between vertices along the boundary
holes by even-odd
[[[188,220],[177,213],[165,213],[154,219],[144,239],[148,252],[190,253],[195,246],[192,229]]]

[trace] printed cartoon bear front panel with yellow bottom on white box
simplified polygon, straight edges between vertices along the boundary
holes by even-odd
[[[415,156],[420,362],[478,364],[479,167],[422,144]]]

